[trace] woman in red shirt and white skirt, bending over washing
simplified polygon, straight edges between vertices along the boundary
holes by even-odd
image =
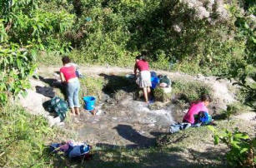
[[[150,86],[152,86],[148,62],[143,55],[136,57],[135,62],[134,74],[137,76],[137,70],[139,71],[139,86],[143,88],[145,101],[148,102]]]

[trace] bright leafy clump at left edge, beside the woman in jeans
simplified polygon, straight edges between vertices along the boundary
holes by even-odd
[[[27,78],[33,75],[36,64],[35,51],[20,48],[17,44],[0,46],[0,105],[8,101],[8,96],[25,93],[30,85]]]

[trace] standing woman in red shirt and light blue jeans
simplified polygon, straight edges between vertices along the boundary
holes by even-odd
[[[63,67],[60,68],[60,78],[66,84],[68,97],[68,106],[71,109],[71,114],[79,115],[79,90],[80,83],[76,75],[76,67],[70,64],[69,57],[63,57]]]

